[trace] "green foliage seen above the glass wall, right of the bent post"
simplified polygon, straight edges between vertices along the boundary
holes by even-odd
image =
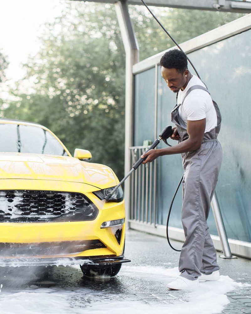
[[[219,11],[150,8],[178,44],[243,16]],[[140,48],[140,60],[175,46],[144,6],[130,6],[130,11]]]

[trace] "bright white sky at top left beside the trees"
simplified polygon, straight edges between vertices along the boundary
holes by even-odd
[[[0,49],[8,56],[7,78],[24,75],[21,63],[39,50],[41,24],[59,16],[65,0],[5,0],[0,3]]]

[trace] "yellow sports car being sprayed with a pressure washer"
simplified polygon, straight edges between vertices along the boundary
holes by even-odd
[[[124,257],[119,181],[91,153],[46,127],[0,119],[0,266],[80,264],[84,275],[115,276]]]

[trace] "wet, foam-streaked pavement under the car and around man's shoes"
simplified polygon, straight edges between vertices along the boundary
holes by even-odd
[[[173,244],[177,249],[182,245]],[[171,250],[166,239],[130,230],[125,257],[132,262],[122,265],[111,279],[85,279],[78,266],[44,268],[44,274],[37,268],[4,268],[0,271],[1,314],[251,313],[248,259],[218,258],[221,281],[201,283],[200,290],[190,292],[166,288],[179,274],[175,268],[179,252]]]

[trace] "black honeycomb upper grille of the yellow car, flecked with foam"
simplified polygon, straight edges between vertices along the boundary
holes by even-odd
[[[53,191],[0,191],[0,222],[94,220],[98,208],[83,194]]]

